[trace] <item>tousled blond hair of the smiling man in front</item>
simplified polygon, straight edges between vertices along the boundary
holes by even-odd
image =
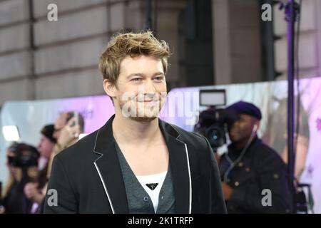
[[[170,51],[165,41],[159,41],[151,31],[116,34],[99,58],[98,66],[103,79],[107,79],[116,86],[121,61],[127,56],[133,58],[141,55],[160,58],[166,73]]]

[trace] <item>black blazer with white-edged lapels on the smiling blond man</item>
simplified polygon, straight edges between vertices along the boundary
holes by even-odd
[[[126,190],[112,132],[102,128],[54,157],[45,213],[128,213]],[[226,213],[218,165],[208,141],[159,120],[168,147],[177,213]]]

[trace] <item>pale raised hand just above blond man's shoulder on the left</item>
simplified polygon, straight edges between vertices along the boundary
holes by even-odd
[[[74,122],[76,122],[76,117],[71,118],[63,129],[61,129],[60,136],[57,140],[61,147],[66,147],[71,140],[78,138],[80,126],[78,124],[73,125]]]

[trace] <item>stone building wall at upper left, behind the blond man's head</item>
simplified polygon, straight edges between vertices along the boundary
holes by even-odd
[[[0,1],[0,105],[104,94],[98,58],[113,33],[144,28],[142,0],[33,0],[30,40],[29,0]],[[49,4],[58,21],[48,21]],[[185,0],[155,1],[158,38],[170,43],[169,82],[178,81],[178,13]],[[34,48],[31,48],[34,43]]]

